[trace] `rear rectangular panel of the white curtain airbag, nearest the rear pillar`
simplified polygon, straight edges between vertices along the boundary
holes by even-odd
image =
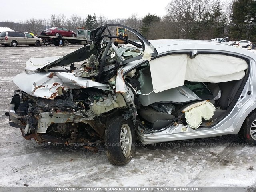
[[[188,59],[187,81],[219,83],[244,77],[247,62],[241,58],[219,54],[199,54]]]

